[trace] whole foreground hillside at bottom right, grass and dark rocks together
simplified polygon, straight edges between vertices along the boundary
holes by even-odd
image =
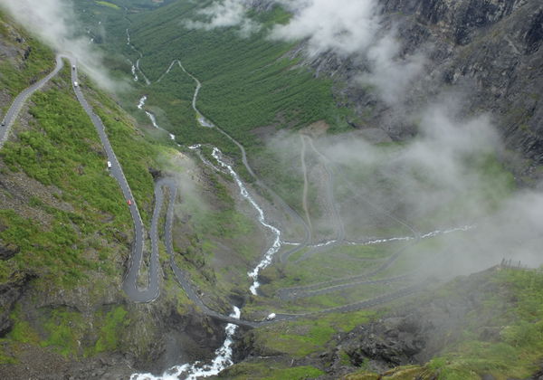
[[[255,330],[238,343],[244,360],[220,377],[281,378],[281,367],[304,365],[321,369],[315,377],[323,380],[538,380],[542,280],[541,271],[507,266],[460,277],[334,334],[321,344],[326,350],[311,349],[317,328],[327,326],[316,319],[309,330]]]

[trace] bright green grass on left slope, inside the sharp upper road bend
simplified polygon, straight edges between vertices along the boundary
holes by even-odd
[[[6,280],[13,271],[35,271],[62,286],[74,286],[85,278],[85,271],[100,268],[100,261],[83,255],[87,237],[101,232],[110,235],[114,228],[127,230],[130,217],[119,185],[109,176],[100,142],[87,115],[68,92],[69,70],[57,80],[61,89],[52,88],[33,95],[31,129],[19,131],[0,151],[12,173],[24,172],[43,185],[59,189],[62,202],[72,210],[57,208],[33,196],[29,204],[52,218],[44,225],[25,219],[13,210],[0,211],[6,228],[0,237],[20,247],[23,254],[0,263]],[[104,220],[114,222],[104,225]],[[110,238],[113,236],[110,235]]]

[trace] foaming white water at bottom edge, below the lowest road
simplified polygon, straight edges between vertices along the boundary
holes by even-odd
[[[241,314],[241,310],[234,306],[233,313],[230,314],[230,317],[239,319]],[[215,357],[210,364],[195,362],[193,364],[185,364],[183,366],[173,366],[161,376],[151,374],[133,374],[130,376],[130,380],[196,380],[199,377],[218,375],[218,373],[224,370],[224,368],[233,365],[232,345],[233,334],[235,334],[236,329],[237,326],[233,323],[226,325],[226,328],[224,328],[226,338],[224,339],[223,346],[215,350]]]

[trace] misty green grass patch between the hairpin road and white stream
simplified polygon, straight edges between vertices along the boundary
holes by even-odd
[[[229,176],[209,172],[205,177],[205,184],[181,194],[179,214],[190,224],[176,223],[182,231],[174,233],[176,261],[203,290],[228,296],[249,287],[247,271],[260,257],[264,235],[250,216],[252,206],[231,195],[231,189],[238,190]]]

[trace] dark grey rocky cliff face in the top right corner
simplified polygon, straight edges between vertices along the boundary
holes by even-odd
[[[509,147],[543,163],[540,2],[391,0],[385,11],[406,14],[406,50],[433,43],[429,73],[438,88],[467,83],[470,110],[490,111]]]

